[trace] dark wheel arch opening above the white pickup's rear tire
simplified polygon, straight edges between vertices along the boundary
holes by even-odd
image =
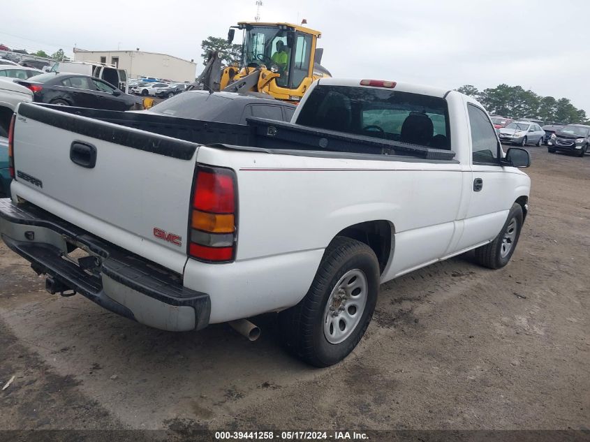
[[[340,230],[336,236],[348,237],[371,247],[377,256],[379,271],[383,274],[394,250],[395,226],[390,221],[377,219],[353,224]]]

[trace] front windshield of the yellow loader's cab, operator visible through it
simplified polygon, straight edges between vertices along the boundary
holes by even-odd
[[[276,79],[276,84],[286,86],[291,50],[287,47],[287,31],[285,29],[265,26],[249,27],[244,31],[242,50],[244,51],[244,66],[253,68],[261,64],[267,68],[276,66],[276,72],[281,74],[281,77]]]

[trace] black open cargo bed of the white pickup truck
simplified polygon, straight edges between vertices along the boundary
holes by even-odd
[[[455,152],[451,150],[328,131],[263,118],[250,117],[247,119],[248,124],[242,125],[167,117],[147,112],[119,112],[56,105],[26,106],[26,108],[21,108],[20,112],[28,114],[38,121],[47,119],[47,112],[40,109],[47,107],[200,145],[220,145],[220,147],[225,145],[224,147],[234,149],[244,147],[247,150],[263,149],[269,153],[281,154],[297,154],[297,152],[310,154],[312,151],[320,156],[322,153],[337,157],[342,154],[345,156],[353,154],[355,157],[361,155],[364,159],[371,159],[371,157],[376,159],[375,156],[378,156],[379,160],[383,160],[384,156],[396,156],[395,160],[397,161],[406,161],[412,157],[439,161],[453,161],[455,158]],[[46,122],[56,125],[59,123],[57,120],[59,119],[53,116],[51,121]],[[61,127],[76,132],[75,127],[69,126],[68,121],[70,120],[64,118]],[[97,125],[95,129],[96,131],[107,130],[100,125]],[[96,133],[93,136],[95,135]]]

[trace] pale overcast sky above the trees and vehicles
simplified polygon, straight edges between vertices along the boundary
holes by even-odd
[[[135,49],[200,64],[200,42],[253,20],[256,0],[3,1],[0,43],[54,52]],[[590,115],[590,2],[585,0],[263,0],[261,21],[322,31],[334,77],[455,89],[521,85],[570,98]],[[205,5],[209,6],[206,7]],[[579,22],[578,22],[579,20]],[[236,38],[240,40],[240,38]],[[240,40],[241,41],[241,40]],[[200,71],[199,66],[199,71]]]

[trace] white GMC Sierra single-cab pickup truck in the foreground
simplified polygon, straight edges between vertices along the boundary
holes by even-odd
[[[9,135],[1,237],[47,290],[163,330],[276,311],[318,367],[380,283],[470,249],[506,265],[528,208],[529,153],[478,102],[400,82],[320,80],[290,123],[23,103]]]

